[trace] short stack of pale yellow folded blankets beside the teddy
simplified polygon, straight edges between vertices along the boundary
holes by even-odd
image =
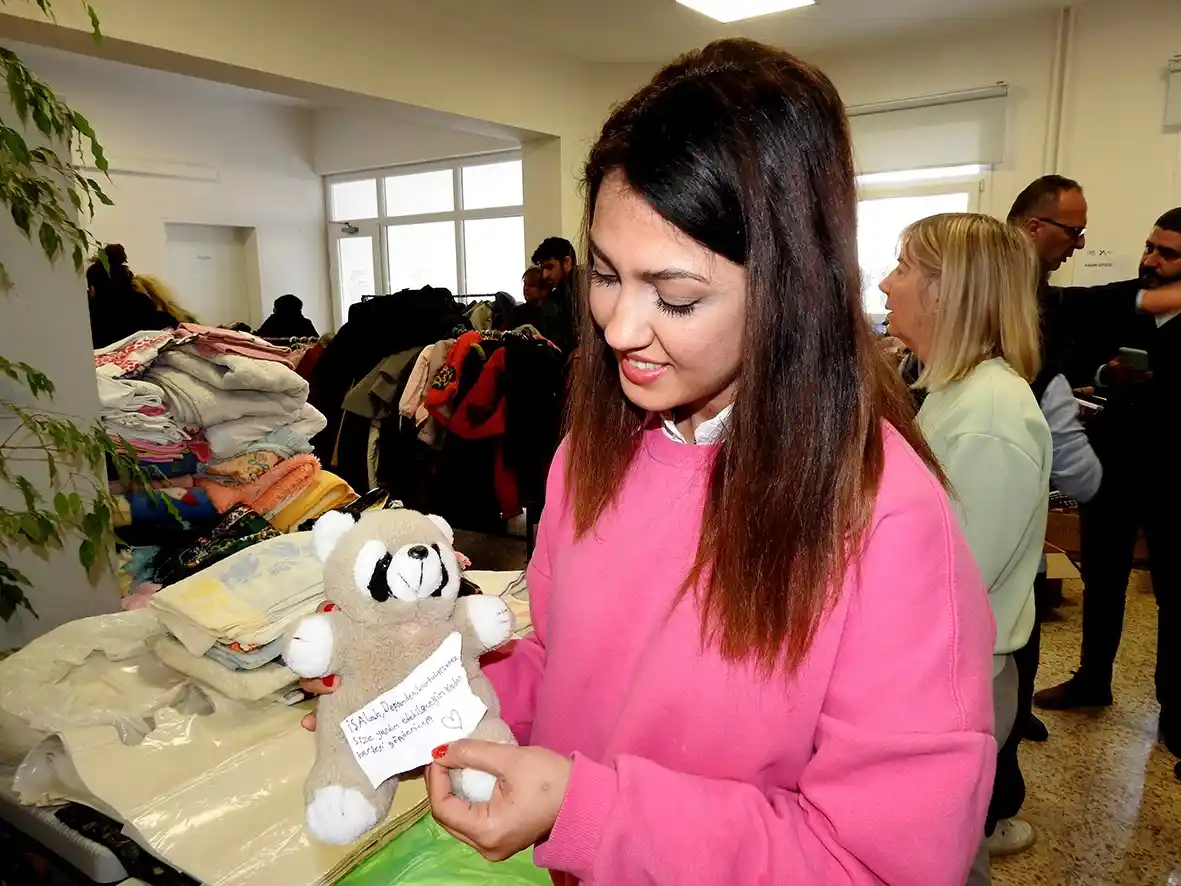
[[[274,672],[280,669],[280,639],[324,601],[322,568],[309,534],[267,538],[157,592],[149,607],[176,639],[167,647],[165,663],[177,667],[200,659],[194,667],[205,682],[217,675],[220,691],[226,691],[226,679],[234,679],[231,673],[263,669],[272,680],[293,683],[289,671]],[[252,680],[267,686],[261,695],[281,688],[261,677]]]

